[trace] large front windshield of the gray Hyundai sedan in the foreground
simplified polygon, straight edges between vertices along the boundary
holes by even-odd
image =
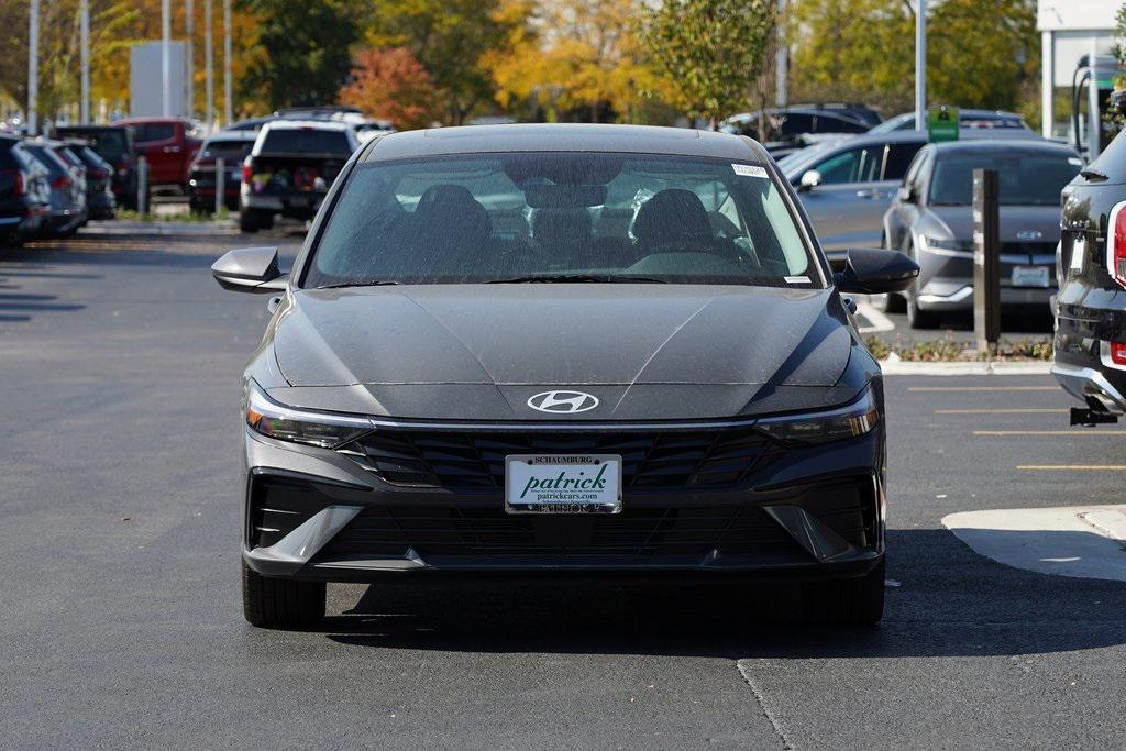
[[[304,286],[645,280],[810,287],[807,275],[808,251],[761,167],[551,152],[358,167]]]

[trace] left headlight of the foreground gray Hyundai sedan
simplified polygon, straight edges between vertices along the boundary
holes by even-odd
[[[294,409],[278,404],[248,381],[243,392],[243,414],[257,433],[295,444],[336,448],[372,430],[364,418]]]

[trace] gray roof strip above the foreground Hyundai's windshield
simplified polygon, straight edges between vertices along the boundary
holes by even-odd
[[[466,125],[388,133],[372,140],[366,161],[513,151],[598,151],[765,161],[744,136],[651,125],[536,123]]]

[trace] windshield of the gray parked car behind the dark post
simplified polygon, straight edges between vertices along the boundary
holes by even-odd
[[[974,170],[998,171],[1002,206],[1058,206],[1060,191],[1079,173],[1082,162],[1067,154],[964,153],[939,155],[930,181],[933,206],[968,206]]]

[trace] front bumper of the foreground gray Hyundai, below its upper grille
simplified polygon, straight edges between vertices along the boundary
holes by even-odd
[[[268,576],[656,572],[860,576],[884,554],[884,438],[794,448],[717,489],[627,488],[619,515],[506,515],[502,491],[385,482],[245,431],[242,556]]]

